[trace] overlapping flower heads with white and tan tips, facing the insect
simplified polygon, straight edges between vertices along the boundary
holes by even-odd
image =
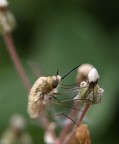
[[[78,69],[79,93],[74,99],[89,104],[101,102],[104,90],[98,85],[99,74],[92,65],[84,64]]]

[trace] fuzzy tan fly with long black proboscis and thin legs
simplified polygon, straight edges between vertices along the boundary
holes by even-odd
[[[79,66],[80,65],[71,69],[63,77],[58,75],[58,70],[57,70],[56,76],[48,76],[48,77],[43,76],[43,77],[39,77],[35,81],[32,88],[30,89],[29,96],[28,96],[28,108],[27,109],[28,109],[28,113],[31,118],[39,118],[41,115],[43,115],[45,113],[45,110],[49,108],[51,103],[53,103],[53,99],[57,100],[57,102],[59,102],[59,105],[68,107],[68,106],[65,106],[64,104],[61,104],[61,101],[56,97],[57,95],[59,95],[58,87],[60,86],[60,82],[66,76],[68,76],[72,71],[77,69]],[[54,103],[56,104],[56,102],[54,102]],[[74,109],[76,109],[76,108],[74,108]],[[78,110],[78,109],[76,109],[76,110]],[[62,115],[62,116],[69,118],[65,114],[58,114],[58,115],[59,116]],[[71,119],[71,118],[69,118],[69,119]]]

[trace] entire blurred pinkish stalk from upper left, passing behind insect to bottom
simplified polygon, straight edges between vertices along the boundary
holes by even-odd
[[[8,52],[11,56],[11,59],[15,65],[15,68],[16,68],[17,72],[19,73],[26,90],[29,92],[29,90],[31,88],[31,84],[27,77],[27,74],[25,73],[22,63],[17,55],[12,36],[10,33],[4,33],[3,38],[4,38],[5,44],[7,46]],[[40,119],[40,122],[42,123],[44,130],[47,130],[48,126],[50,124],[48,119],[45,117],[44,120]],[[50,133],[51,133],[52,137],[56,140],[54,131],[50,130]]]

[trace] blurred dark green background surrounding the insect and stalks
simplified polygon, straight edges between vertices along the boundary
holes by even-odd
[[[95,0],[9,0],[17,20],[13,38],[33,83],[28,61],[42,75],[63,75],[72,67],[91,63],[105,90],[102,103],[86,119],[93,144],[119,143],[119,2]],[[27,92],[0,36],[0,134],[14,113],[23,114],[34,144],[43,144],[43,130],[27,114]],[[35,69],[35,68],[34,68]],[[69,76],[75,80],[74,76]],[[66,82],[69,83],[69,79]]]

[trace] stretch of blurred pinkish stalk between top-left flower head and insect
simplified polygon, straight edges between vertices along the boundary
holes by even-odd
[[[27,78],[27,75],[24,71],[24,68],[22,67],[21,61],[20,61],[20,59],[17,55],[17,52],[15,50],[12,36],[10,33],[4,33],[3,38],[4,38],[5,44],[7,46],[7,50],[8,50],[8,52],[11,56],[11,59],[15,65],[15,68],[16,68],[17,72],[19,73],[26,90],[29,91],[31,88],[31,84],[29,82],[29,79]]]

